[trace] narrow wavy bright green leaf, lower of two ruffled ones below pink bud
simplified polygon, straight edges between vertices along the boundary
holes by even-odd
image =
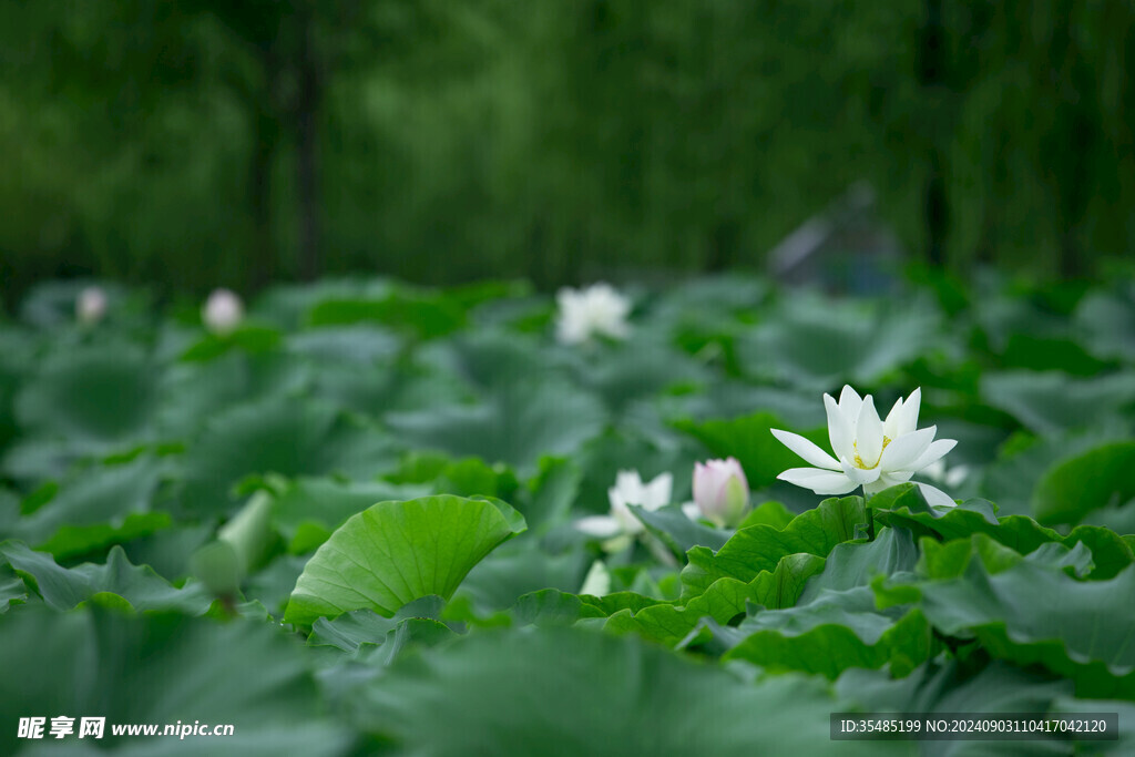
[[[815,555],[787,555],[772,571],[762,571],[745,583],[723,578],[684,605],[656,603],[641,608],[612,613],[604,629],[614,633],[634,632],[673,647],[684,639],[704,617],[725,624],[745,613],[749,603],[771,609],[791,607],[806,581],[822,571],[824,558]]]

